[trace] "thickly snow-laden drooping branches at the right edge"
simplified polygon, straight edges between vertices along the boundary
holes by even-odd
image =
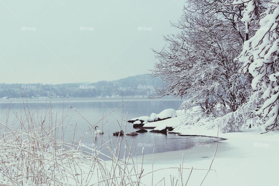
[[[259,18],[256,3],[260,1],[240,1],[246,12],[242,21],[247,25]],[[232,4],[239,4],[239,1]],[[269,7],[261,15],[260,28],[255,35],[244,42],[239,60],[244,72],[253,76],[252,87],[263,92],[264,104],[256,112],[263,124],[262,129],[279,129],[279,0],[269,2]]]

